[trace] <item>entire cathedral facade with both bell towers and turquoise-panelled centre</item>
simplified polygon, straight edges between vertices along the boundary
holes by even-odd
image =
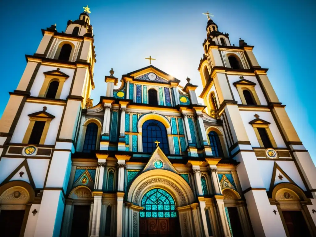
[[[316,235],[316,169],[254,46],[208,15],[200,95],[152,65],[111,69],[93,106],[89,13],[42,29],[9,92],[1,236]]]

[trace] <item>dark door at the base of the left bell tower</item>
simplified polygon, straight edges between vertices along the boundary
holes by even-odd
[[[2,210],[0,212],[0,235],[19,237],[25,210]]]

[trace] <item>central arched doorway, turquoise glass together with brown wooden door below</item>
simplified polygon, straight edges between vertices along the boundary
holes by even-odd
[[[179,220],[173,197],[161,188],[148,191],[142,198],[139,236],[180,236]]]

